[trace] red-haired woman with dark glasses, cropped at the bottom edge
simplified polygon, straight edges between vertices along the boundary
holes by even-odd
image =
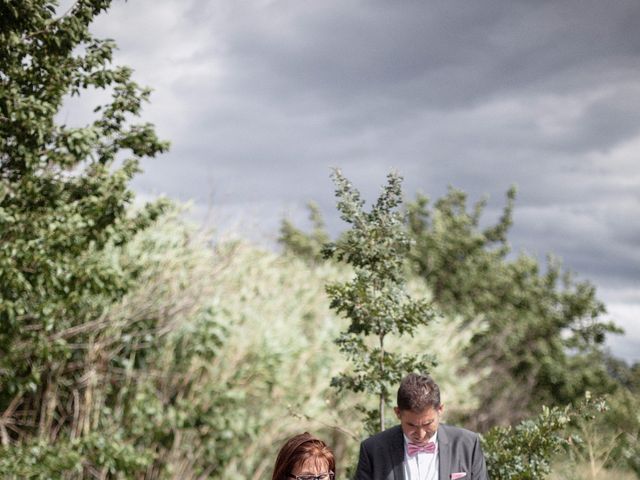
[[[334,480],[336,461],[322,440],[304,432],[282,446],[272,480]]]

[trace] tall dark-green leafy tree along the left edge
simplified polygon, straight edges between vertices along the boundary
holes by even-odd
[[[116,249],[164,209],[162,203],[136,213],[129,208],[128,183],[139,160],[168,145],[152,125],[132,122],[149,90],[132,80],[130,68],[112,65],[113,41],[89,31],[110,3],[79,0],[57,16],[55,1],[0,1],[0,440],[5,447],[32,439],[55,442],[69,433],[65,428],[73,423],[74,409],[90,401],[88,379],[96,377],[87,377],[84,360],[96,353],[94,340],[108,325],[104,313],[135,281],[135,262],[126,267]],[[60,123],[65,99],[91,89],[110,92],[110,101],[96,105],[86,125]],[[94,366],[102,364],[93,360]],[[85,433],[93,420],[86,422]],[[83,434],[81,428],[74,432],[72,437]],[[100,441],[87,435],[84,447],[68,449],[95,453]],[[127,455],[121,447],[116,450]],[[123,465],[136,461],[127,462],[107,468],[126,472]]]

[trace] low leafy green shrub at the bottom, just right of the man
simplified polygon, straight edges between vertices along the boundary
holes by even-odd
[[[494,427],[483,437],[490,478],[541,480],[551,472],[554,456],[576,441],[570,427],[593,422],[606,410],[590,395],[577,407],[543,407],[542,413],[516,427]]]

